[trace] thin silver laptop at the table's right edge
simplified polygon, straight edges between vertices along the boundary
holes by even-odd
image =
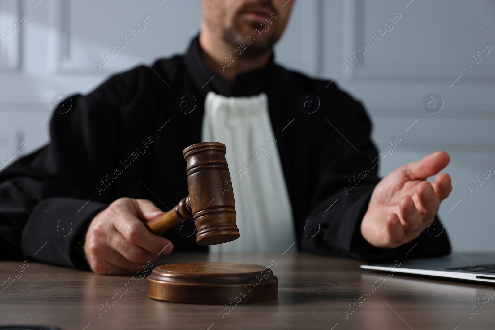
[[[398,260],[361,265],[363,269],[396,274],[425,275],[439,278],[495,283],[495,253],[453,253],[440,258]]]

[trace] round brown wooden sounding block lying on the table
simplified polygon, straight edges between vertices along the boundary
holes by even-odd
[[[158,266],[148,276],[150,298],[191,304],[246,304],[277,297],[277,278],[266,267],[230,262]]]

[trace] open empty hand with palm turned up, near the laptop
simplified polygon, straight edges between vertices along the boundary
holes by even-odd
[[[437,175],[450,158],[437,151],[418,162],[403,165],[383,178],[373,190],[361,222],[361,234],[372,245],[395,248],[418,237],[430,226],[443,199],[452,190],[448,174]]]

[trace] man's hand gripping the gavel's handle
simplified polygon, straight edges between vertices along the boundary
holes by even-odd
[[[172,252],[168,239],[144,225],[164,212],[146,199],[119,198],[97,214],[84,244],[86,260],[97,274],[137,272],[159,254]]]

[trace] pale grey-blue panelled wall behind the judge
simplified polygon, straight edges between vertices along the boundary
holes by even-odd
[[[113,73],[183,52],[198,32],[198,0],[162,1],[0,1],[0,33],[29,14],[0,46],[0,155],[22,136],[30,138],[28,152],[47,143],[44,120],[55,94],[85,94]],[[146,29],[98,71],[99,56],[148,12],[153,18]],[[347,56],[397,12],[393,29],[346,71]],[[488,43],[495,46],[494,14],[492,0],[297,0],[276,48],[279,63],[315,77],[337,77],[360,99],[379,148],[400,137],[382,161],[381,175],[435,150],[450,154],[446,171],[454,190],[440,216],[461,251],[495,250],[495,178],[471,195],[466,189],[487,167],[495,169],[495,50],[472,71],[466,65]],[[435,114],[422,105],[432,92],[444,100]]]

